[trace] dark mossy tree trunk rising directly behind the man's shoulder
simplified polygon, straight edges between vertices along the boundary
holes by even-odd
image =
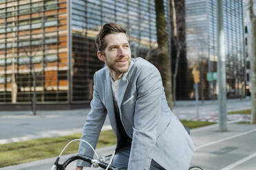
[[[164,16],[164,1],[155,0],[156,10],[156,34],[158,40],[158,69],[162,76],[164,92],[167,97],[167,103],[172,110],[172,93],[171,93],[171,69],[170,56],[168,50],[168,39]]]

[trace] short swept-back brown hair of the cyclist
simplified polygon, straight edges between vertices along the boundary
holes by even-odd
[[[127,34],[127,29],[125,27],[122,27],[122,25],[118,25],[116,23],[106,23],[103,25],[103,27],[100,29],[100,32],[96,36],[96,47],[97,50],[100,51],[100,53],[104,53],[104,49],[106,47],[105,43],[105,36],[108,34],[117,34],[117,33],[125,33],[127,36],[127,40],[130,43],[130,38]]]

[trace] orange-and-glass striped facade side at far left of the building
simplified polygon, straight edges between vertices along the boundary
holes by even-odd
[[[67,4],[0,0],[0,102],[67,101]],[[36,75],[36,88],[33,86]]]

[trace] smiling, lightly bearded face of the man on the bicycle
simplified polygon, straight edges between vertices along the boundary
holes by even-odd
[[[124,33],[108,34],[105,36],[104,53],[98,51],[98,58],[107,64],[109,71],[118,78],[126,73],[131,63],[131,49]],[[115,79],[115,77],[113,77]]]

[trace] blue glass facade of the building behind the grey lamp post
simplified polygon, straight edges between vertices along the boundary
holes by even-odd
[[[228,97],[245,95],[245,58],[242,0],[222,1]],[[186,46],[188,67],[200,71],[200,97],[217,96],[217,82],[207,81],[207,73],[217,71],[216,1],[186,0]],[[191,89],[193,92],[193,89]],[[193,97],[191,93],[191,97]]]

